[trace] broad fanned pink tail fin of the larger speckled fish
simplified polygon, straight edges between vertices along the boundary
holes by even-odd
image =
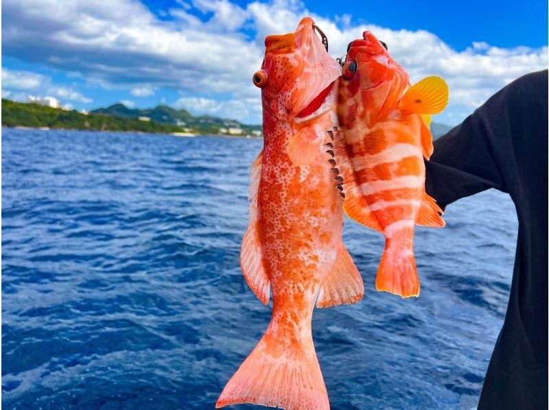
[[[284,409],[329,410],[312,335],[291,344],[272,322],[253,352],[227,382],[215,408],[250,403]]]

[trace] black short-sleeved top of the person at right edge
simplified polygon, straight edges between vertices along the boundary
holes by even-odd
[[[517,209],[511,295],[479,410],[547,408],[547,93],[547,70],[520,77],[435,141],[425,162],[427,192],[441,207],[495,188]]]

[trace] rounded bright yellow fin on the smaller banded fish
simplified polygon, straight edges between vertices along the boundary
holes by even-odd
[[[401,110],[415,114],[439,114],[448,104],[448,85],[436,75],[417,82],[400,100]]]

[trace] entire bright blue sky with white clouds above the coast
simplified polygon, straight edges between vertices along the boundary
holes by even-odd
[[[3,0],[2,97],[52,95],[68,108],[168,104],[261,123],[251,77],[264,38],[312,16],[330,53],[365,29],[412,83],[443,77],[455,125],[493,93],[548,67],[547,1]]]

